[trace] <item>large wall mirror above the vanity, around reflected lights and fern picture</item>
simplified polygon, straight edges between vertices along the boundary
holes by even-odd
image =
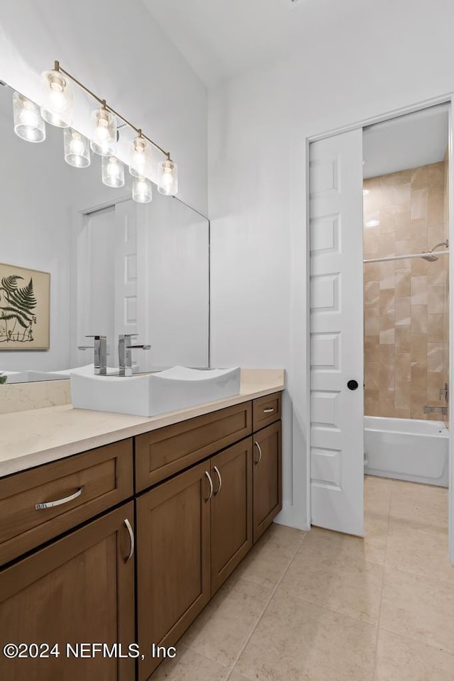
[[[27,380],[26,370],[91,364],[77,345],[92,333],[109,336],[109,366],[118,366],[118,333],[152,346],[134,351],[138,370],[208,366],[206,218],[157,191],[136,204],[128,177],[121,189],[106,187],[94,154],[87,168],[67,165],[60,128],[46,126],[42,143],[21,140],[12,108],[12,90],[0,87],[0,262],[50,272],[50,349],[0,350],[0,372]]]

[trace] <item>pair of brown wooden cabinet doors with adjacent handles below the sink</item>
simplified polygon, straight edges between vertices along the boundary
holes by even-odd
[[[252,439],[137,499],[138,641],[173,646],[253,545]],[[161,662],[139,663],[145,681]]]

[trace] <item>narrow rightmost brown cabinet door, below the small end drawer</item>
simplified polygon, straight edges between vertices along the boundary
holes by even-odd
[[[254,433],[254,543],[282,509],[281,422]]]

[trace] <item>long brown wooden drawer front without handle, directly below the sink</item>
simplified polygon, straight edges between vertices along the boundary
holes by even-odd
[[[251,432],[251,403],[244,402],[136,437],[136,491],[165,480]]]

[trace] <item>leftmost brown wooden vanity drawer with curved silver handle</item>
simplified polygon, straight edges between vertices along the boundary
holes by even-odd
[[[131,438],[0,480],[0,565],[132,494]]]

